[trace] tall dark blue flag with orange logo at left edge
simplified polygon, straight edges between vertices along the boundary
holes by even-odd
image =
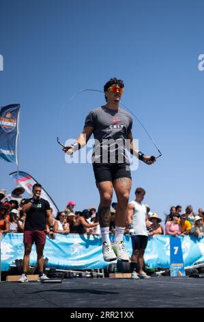
[[[18,119],[20,104],[3,106],[0,110],[0,158],[18,164]]]

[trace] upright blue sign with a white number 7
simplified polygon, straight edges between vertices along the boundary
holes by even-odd
[[[185,276],[181,238],[170,236],[170,272],[171,276]]]

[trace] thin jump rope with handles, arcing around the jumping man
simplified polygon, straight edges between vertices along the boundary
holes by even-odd
[[[78,95],[81,92],[87,92],[87,91],[92,91],[92,92],[102,92],[104,93],[102,90],[93,90],[93,89],[83,89],[83,90],[78,90],[68,101],[65,101],[65,103],[63,104],[63,106],[61,107],[60,113],[59,113],[59,120],[58,120],[58,125],[57,125],[57,143],[59,143],[59,145],[61,145],[61,147],[65,148],[65,145],[63,145],[63,143],[59,142],[59,137],[58,137],[58,132],[59,132],[59,121],[61,119],[61,113],[63,111],[63,109],[65,108],[66,104],[69,104],[75,97],[76,95]],[[128,108],[128,106],[126,106],[126,104],[123,103],[123,101],[120,101],[121,104],[123,105],[124,108],[126,108],[126,110],[128,110],[128,112],[130,112],[134,118],[140,123],[140,125],[143,127],[143,129],[145,130],[145,132],[147,133],[147,135],[149,136],[151,142],[154,144],[154,146],[156,147],[156,149],[158,150],[159,156],[151,156],[151,161],[155,161],[156,159],[160,158],[160,156],[162,156],[162,153],[160,151],[160,149],[158,149],[156,143],[154,142],[153,138],[151,137],[151,135],[149,134],[149,132],[147,131],[147,129],[145,129],[143,123],[141,123],[141,121],[139,120],[139,118]]]

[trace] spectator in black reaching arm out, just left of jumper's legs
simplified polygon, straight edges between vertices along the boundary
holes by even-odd
[[[71,234],[85,234],[85,232],[87,232],[87,228],[96,227],[97,225],[98,223],[87,223],[85,212],[76,212],[76,217],[70,225],[70,232]]]

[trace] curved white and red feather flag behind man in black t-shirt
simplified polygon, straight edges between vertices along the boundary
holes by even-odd
[[[37,184],[37,181],[33,177],[31,177],[31,175],[23,171],[15,171],[10,173],[10,176],[14,180],[16,180],[17,184],[25,188],[25,191],[29,195],[33,195],[32,193],[33,184]],[[56,217],[59,209],[55,205],[55,202],[53,201],[53,199],[48,195],[48,193],[46,193],[46,190],[44,190],[44,188],[42,188],[41,197],[50,203],[50,207],[53,209],[53,217]]]

